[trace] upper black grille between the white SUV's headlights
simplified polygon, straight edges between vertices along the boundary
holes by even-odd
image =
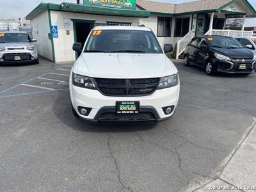
[[[99,92],[107,96],[144,96],[152,94],[159,78],[145,79],[102,79],[95,78]]]

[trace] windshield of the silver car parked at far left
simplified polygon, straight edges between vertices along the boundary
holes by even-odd
[[[0,33],[0,43],[31,42],[26,33]]]

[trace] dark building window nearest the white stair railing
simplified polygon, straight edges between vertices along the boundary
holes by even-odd
[[[190,18],[175,19],[175,34],[174,36],[184,36],[189,31]]]

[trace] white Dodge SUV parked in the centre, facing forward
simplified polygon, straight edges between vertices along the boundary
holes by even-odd
[[[70,74],[75,116],[98,121],[164,120],[179,100],[178,70],[149,28],[97,26]]]

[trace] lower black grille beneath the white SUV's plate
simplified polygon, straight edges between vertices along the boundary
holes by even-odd
[[[153,113],[150,112],[141,112],[137,114],[129,114],[129,113],[102,113],[100,115],[99,120],[106,121],[106,120],[115,120],[115,121],[136,121],[136,120],[156,120]]]

